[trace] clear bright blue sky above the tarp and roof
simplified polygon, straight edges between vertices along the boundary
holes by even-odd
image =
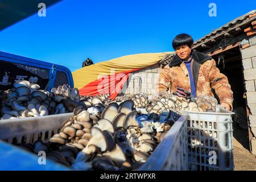
[[[209,3],[217,5],[210,17]],[[255,0],[65,0],[0,31],[0,51],[61,64],[75,71],[134,53],[173,51],[180,33],[194,40],[256,9]]]

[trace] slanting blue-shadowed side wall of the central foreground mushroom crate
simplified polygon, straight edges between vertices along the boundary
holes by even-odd
[[[183,113],[158,144],[140,171],[187,171],[187,115]]]

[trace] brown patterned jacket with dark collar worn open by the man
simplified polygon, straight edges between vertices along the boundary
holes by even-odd
[[[216,92],[221,103],[229,104],[233,109],[233,92],[228,82],[228,78],[220,73],[212,57],[192,50],[192,75],[196,87],[196,96],[214,96]],[[156,92],[168,91],[175,92],[177,87],[181,87],[191,92],[188,69],[175,55],[159,75],[159,82]]]

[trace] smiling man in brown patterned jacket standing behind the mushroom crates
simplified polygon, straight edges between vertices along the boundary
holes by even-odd
[[[159,75],[157,92],[174,93],[176,88],[183,88],[198,96],[213,96],[212,89],[220,99],[221,106],[232,110],[233,92],[228,78],[220,73],[212,57],[192,50],[193,38],[188,34],[177,35],[172,47],[175,56]]]

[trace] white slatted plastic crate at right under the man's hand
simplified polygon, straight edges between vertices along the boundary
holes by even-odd
[[[189,170],[234,169],[232,114],[234,113],[221,106],[217,106],[216,113],[189,111],[187,117]]]

